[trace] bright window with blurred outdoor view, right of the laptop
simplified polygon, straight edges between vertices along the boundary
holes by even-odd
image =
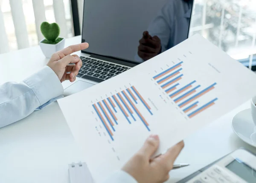
[[[195,0],[190,36],[196,33],[245,66],[256,66],[255,0]]]

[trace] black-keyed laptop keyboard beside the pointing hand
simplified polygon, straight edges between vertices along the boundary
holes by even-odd
[[[121,74],[130,67],[125,67],[122,65],[117,65],[111,62],[106,62],[102,60],[97,60],[90,57],[80,57],[83,66],[81,67],[77,77],[81,77],[87,80],[92,80],[95,82],[102,82],[110,79],[111,77]]]

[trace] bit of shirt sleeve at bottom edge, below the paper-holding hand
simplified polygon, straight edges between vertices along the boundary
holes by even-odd
[[[137,183],[137,180],[130,174],[119,170],[108,177],[103,183]]]

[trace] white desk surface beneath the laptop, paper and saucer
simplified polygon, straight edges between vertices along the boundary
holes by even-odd
[[[66,40],[66,46],[81,42],[81,37]],[[40,48],[33,47],[0,55],[0,84],[20,81],[45,66],[48,60]],[[176,182],[241,146],[230,126],[233,116],[250,107],[245,103],[230,114],[185,139],[177,163],[191,166],[173,170],[169,183]],[[68,183],[67,165],[85,160],[57,103],[0,129],[1,183]]]

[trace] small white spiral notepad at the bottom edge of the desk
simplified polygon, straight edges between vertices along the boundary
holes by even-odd
[[[93,177],[86,163],[71,163],[68,165],[70,183],[93,183]]]

